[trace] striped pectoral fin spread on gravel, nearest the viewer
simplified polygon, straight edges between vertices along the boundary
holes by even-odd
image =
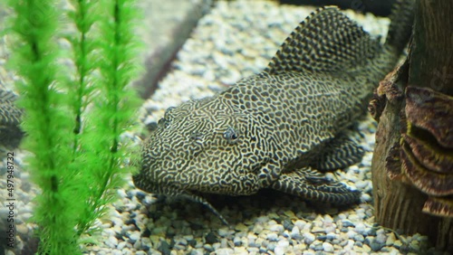
[[[359,203],[361,197],[360,191],[352,191],[346,185],[329,180],[309,167],[280,175],[271,188],[322,203]]]

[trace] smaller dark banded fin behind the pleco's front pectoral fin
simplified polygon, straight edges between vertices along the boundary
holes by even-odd
[[[341,134],[329,141],[310,165],[322,172],[334,171],[360,162],[364,154],[357,142]]]

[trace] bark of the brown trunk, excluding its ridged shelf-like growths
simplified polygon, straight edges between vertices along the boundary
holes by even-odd
[[[401,178],[391,179],[388,171],[393,167],[401,172],[398,145],[400,130],[405,128],[401,127],[405,125],[401,119],[405,88],[417,86],[453,96],[453,1],[417,1],[406,64],[402,68],[403,82],[396,85],[401,97],[387,97],[376,134],[371,166],[376,219],[396,231],[428,235],[439,249],[453,252],[453,218],[422,213],[428,195]]]

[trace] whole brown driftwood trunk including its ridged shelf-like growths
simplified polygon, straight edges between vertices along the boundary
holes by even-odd
[[[417,1],[409,56],[370,109],[377,221],[453,252],[453,1]]]

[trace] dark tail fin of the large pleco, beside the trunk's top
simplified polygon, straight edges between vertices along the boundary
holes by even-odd
[[[398,55],[409,42],[414,22],[414,8],[414,0],[398,0],[393,5],[385,46]]]

